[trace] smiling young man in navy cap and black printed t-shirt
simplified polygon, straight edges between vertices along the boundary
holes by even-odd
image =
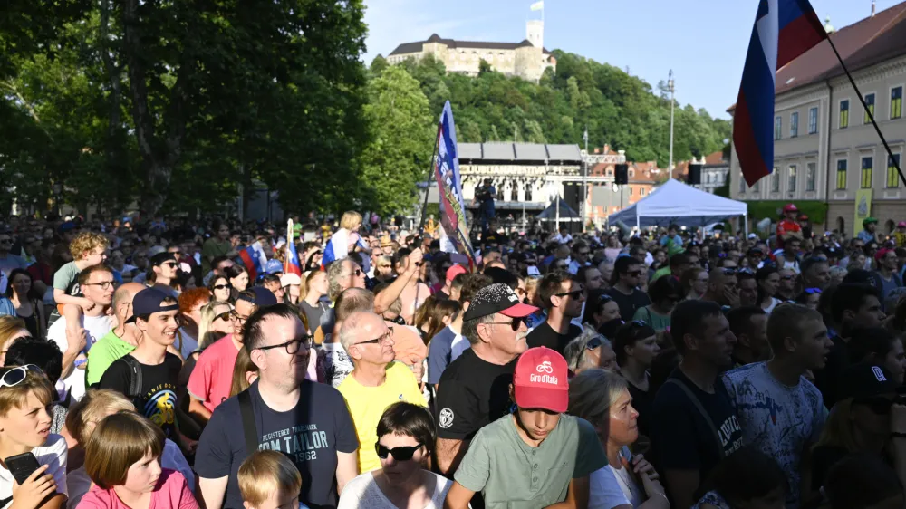
[[[101,389],[121,392],[139,413],[162,427],[180,443],[176,423],[177,378],[182,361],[167,351],[176,340],[176,299],[156,288],[146,288],[132,298],[132,316],[141,340],[135,350],[114,360],[101,377]],[[183,448],[184,452],[186,448]]]

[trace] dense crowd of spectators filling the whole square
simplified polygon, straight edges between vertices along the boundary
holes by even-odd
[[[904,507],[906,222],[784,214],[491,218],[471,266],[355,212],[11,217],[0,509]]]

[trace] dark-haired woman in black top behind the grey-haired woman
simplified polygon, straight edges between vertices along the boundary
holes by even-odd
[[[632,406],[639,411],[639,432],[649,436],[651,405],[651,364],[660,353],[658,333],[645,322],[629,322],[613,335],[613,351],[622,377],[629,382]]]

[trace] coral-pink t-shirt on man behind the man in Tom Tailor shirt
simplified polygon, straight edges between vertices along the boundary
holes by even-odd
[[[233,334],[220,338],[201,352],[195,369],[188,378],[188,392],[210,411],[229,398],[233,387],[233,368],[239,351],[233,344]]]

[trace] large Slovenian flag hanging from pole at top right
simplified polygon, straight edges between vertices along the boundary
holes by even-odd
[[[827,38],[808,0],[761,0],[748,44],[733,144],[751,187],[774,168],[774,95],[777,69]]]

